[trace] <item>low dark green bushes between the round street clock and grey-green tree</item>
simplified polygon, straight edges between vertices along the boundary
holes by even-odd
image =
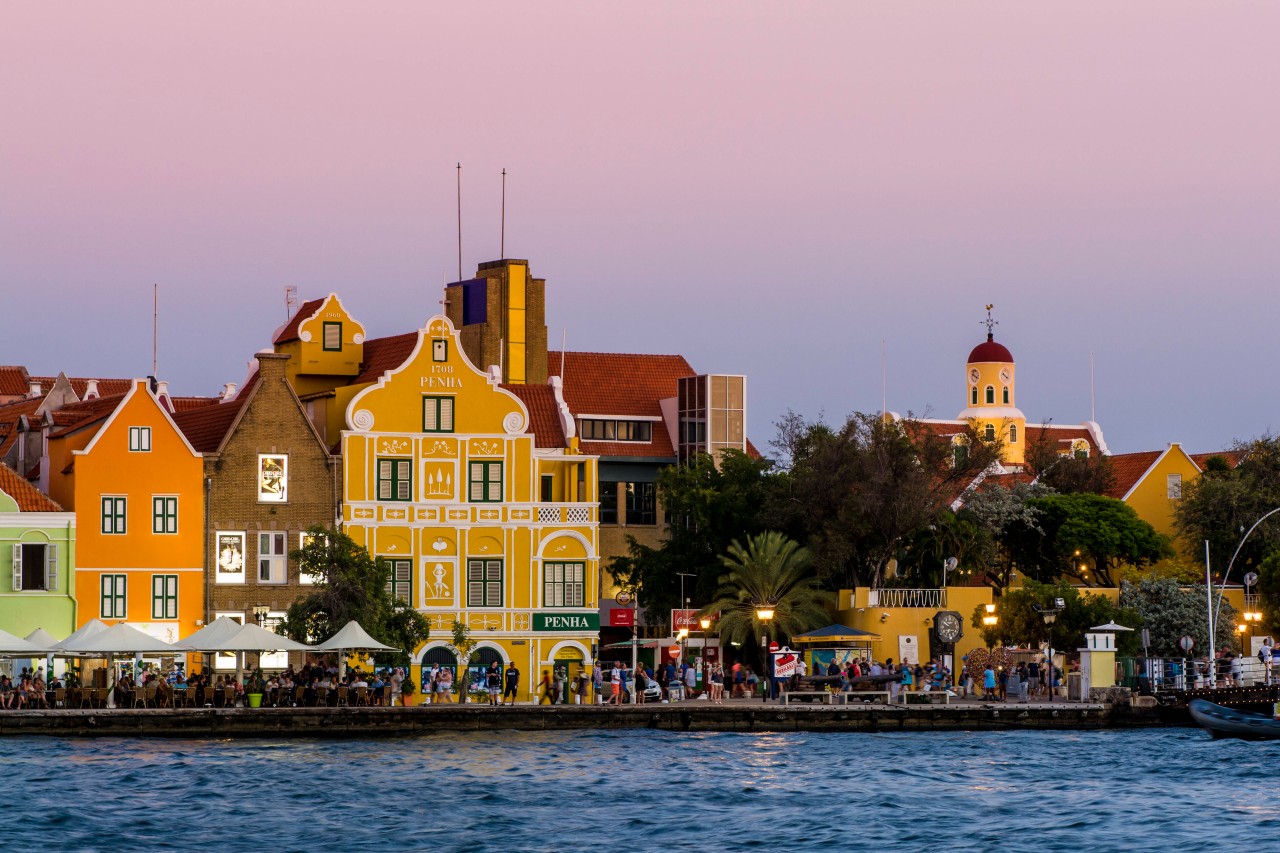
[[[988,648],[1038,646],[1048,637],[1050,629],[1036,607],[1052,608],[1056,598],[1061,598],[1065,606],[1053,621],[1055,648],[1076,648],[1084,643],[1085,630],[1110,621],[1125,628],[1142,628],[1142,616],[1137,611],[1117,607],[1106,596],[1082,594],[1076,587],[1064,580],[1051,584],[1027,580],[1023,587],[1010,589],[996,602],[998,622],[995,628],[982,624],[987,611],[980,605],[973,611],[972,624]],[[1116,642],[1121,653],[1134,653],[1137,649],[1129,634],[1121,633]]]

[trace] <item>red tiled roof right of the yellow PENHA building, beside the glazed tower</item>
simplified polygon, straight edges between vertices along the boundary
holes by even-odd
[[[549,375],[561,375],[561,352],[547,353]],[[680,355],[564,352],[562,393],[575,418],[662,418],[662,401],[675,397],[677,382],[698,371]],[[653,421],[650,442],[580,442],[596,456],[673,459],[676,447],[666,420]]]

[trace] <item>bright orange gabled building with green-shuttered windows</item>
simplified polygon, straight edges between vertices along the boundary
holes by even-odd
[[[202,624],[204,461],[172,406],[136,379],[108,416],[61,439],[69,453],[50,447],[50,459],[70,457],[54,471],[61,480],[54,491],[72,498],[68,508],[83,532],[78,625],[128,621],[172,643]]]

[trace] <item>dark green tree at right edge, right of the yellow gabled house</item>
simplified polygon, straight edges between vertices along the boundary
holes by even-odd
[[[1231,555],[1249,528],[1280,507],[1280,437],[1263,435],[1238,442],[1231,450],[1235,467],[1225,457],[1212,459],[1201,476],[1183,484],[1183,497],[1174,507],[1178,534],[1196,560],[1203,560],[1210,543],[1215,575],[1226,571]],[[1230,580],[1257,570],[1266,556],[1280,548],[1280,512],[1263,521],[1244,544],[1231,566]],[[1203,565],[1203,564],[1202,564]]]

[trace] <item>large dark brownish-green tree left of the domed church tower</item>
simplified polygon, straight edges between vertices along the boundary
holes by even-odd
[[[777,443],[791,460],[794,505],[781,526],[803,537],[823,579],[842,587],[883,585],[908,538],[934,524],[1001,452],[974,424],[951,437],[913,418],[860,412],[838,430],[788,412]]]

